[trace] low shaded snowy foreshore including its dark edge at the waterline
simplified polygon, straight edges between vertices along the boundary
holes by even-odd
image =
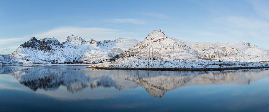
[[[269,68],[269,63],[230,62],[230,61],[160,61],[144,59],[137,56],[125,57],[112,62],[94,64],[87,68],[125,69],[125,70],[169,70],[169,71],[212,71]]]

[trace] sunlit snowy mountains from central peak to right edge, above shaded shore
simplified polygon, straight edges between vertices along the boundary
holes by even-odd
[[[122,58],[130,56],[147,59],[155,58],[161,61],[225,60],[231,62],[261,62],[268,61],[269,50],[246,42],[231,42],[228,44],[186,42],[168,37],[162,30],[153,30],[142,42],[119,54],[119,57]]]

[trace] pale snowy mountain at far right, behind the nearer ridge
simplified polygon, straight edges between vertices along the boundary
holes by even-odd
[[[269,50],[268,49],[262,49],[259,48],[256,45],[252,45],[246,41],[244,42],[230,42],[228,45],[231,45],[235,48],[240,49],[242,52],[244,52],[246,55],[269,55]]]

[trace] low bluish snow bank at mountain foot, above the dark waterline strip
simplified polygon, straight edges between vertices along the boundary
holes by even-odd
[[[144,59],[138,56],[119,58],[112,62],[98,63],[90,68],[236,68],[236,67],[269,67],[268,63],[230,62],[230,61],[159,61]]]

